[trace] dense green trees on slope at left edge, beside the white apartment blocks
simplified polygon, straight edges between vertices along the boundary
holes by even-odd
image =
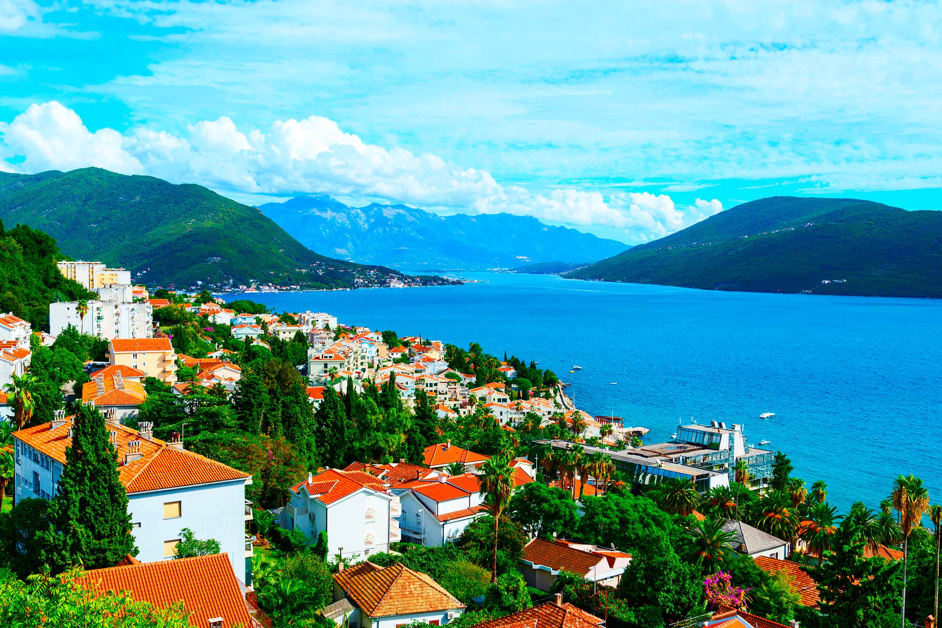
[[[59,272],[59,258],[56,240],[46,233],[19,224],[6,230],[0,220],[0,313],[11,312],[33,330],[48,331],[49,303],[95,298]]]

